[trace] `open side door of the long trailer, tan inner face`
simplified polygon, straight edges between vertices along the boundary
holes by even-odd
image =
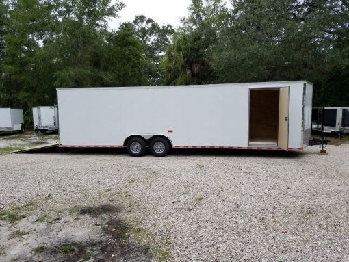
[[[278,147],[288,151],[289,126],[289,86],[280,88],[279,92],[279,132]]]

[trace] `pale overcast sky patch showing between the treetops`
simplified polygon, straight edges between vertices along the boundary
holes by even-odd
[[[118,19],[112,19],[109,26],[117,29],[120,23],[133,21],[136,15],[144,14],[159,25],[180,25],[180,18],[187,16],[190,0],[122,0],[125,8]]]

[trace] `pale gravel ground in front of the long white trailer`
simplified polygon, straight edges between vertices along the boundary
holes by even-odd
[[[27,212],[0,221],[0,261],[78,261],[93,245],[90,261],[349,261],[349,144],[327,150],[0,155],[0,209]],[[36,233],[11,238],[18,228]],[[113,246],[124,233],[129,246]],[[51,248],[77,239],[90,249]],[[49,251],[33,254],[40,241]]]

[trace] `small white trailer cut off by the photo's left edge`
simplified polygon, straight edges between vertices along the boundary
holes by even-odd
[[[24,132],[23,110],[0,108],[0,132]]]

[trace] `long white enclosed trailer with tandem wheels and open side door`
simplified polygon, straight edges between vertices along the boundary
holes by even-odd
[[[60,146],[303,150],[312,92],[307,81],[58,88]]]

